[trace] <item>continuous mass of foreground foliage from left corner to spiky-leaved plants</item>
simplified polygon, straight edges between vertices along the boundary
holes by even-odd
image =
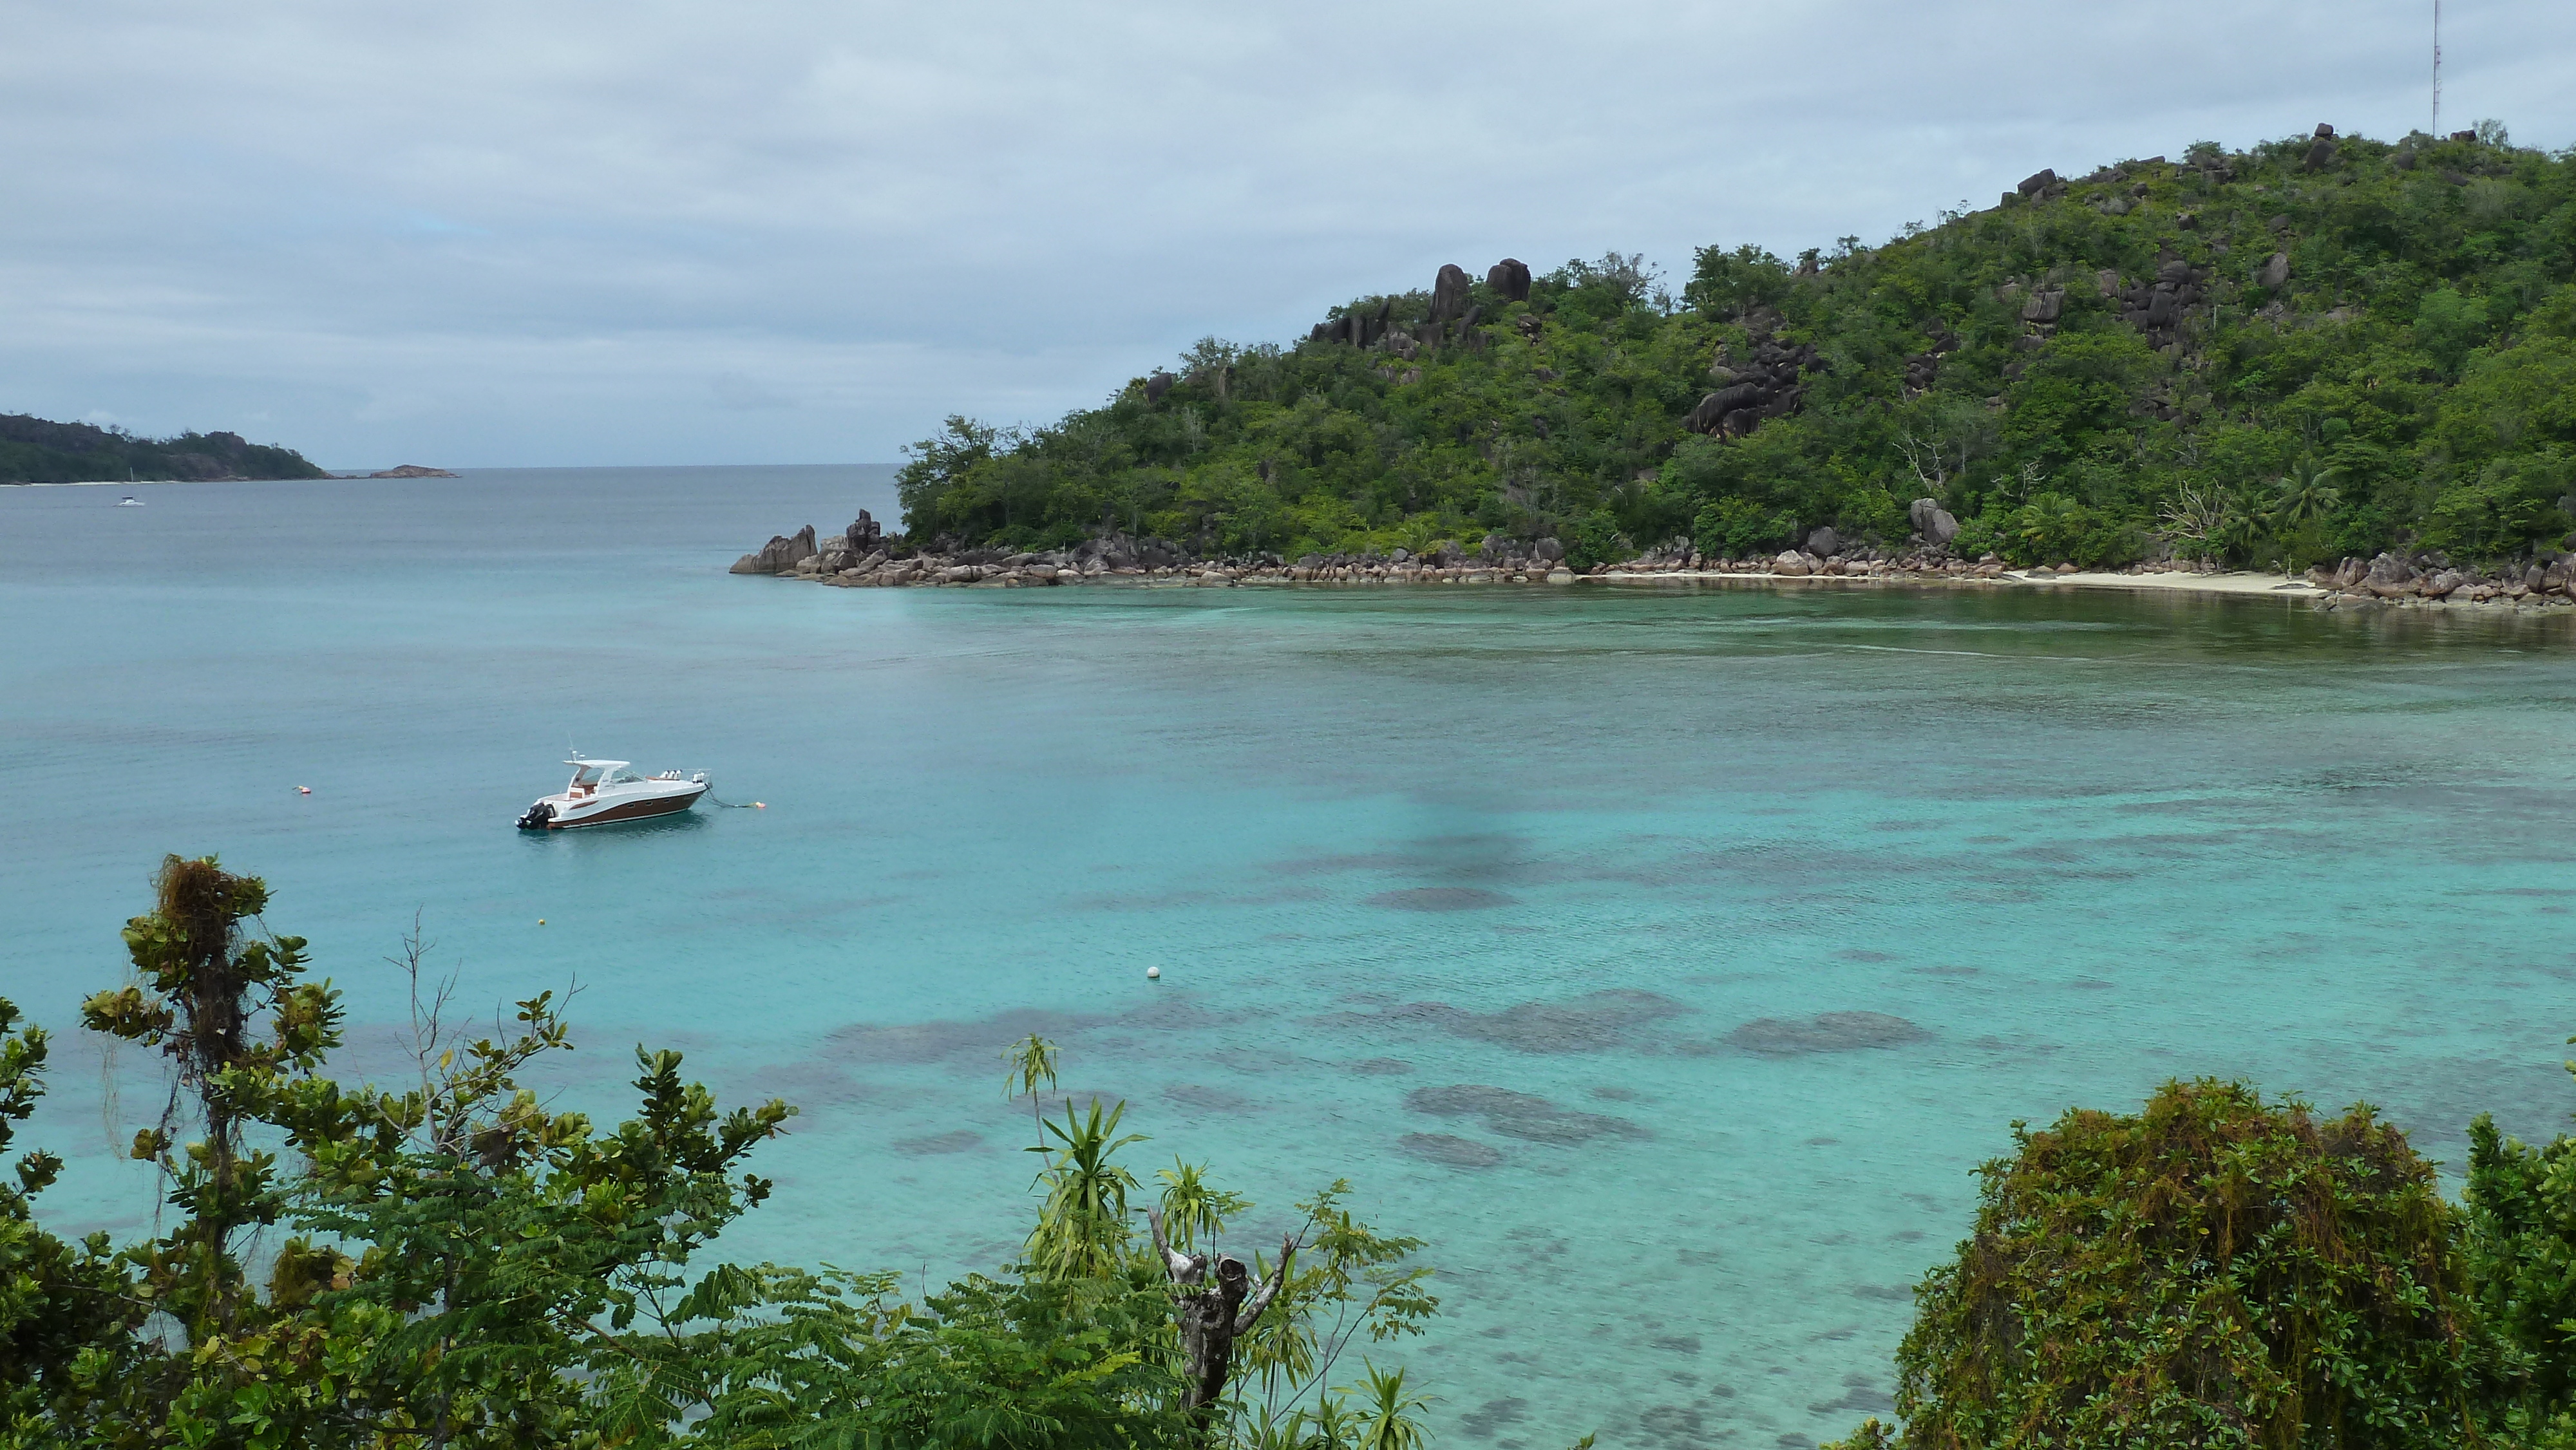
[[[1319,1262],[1291,1272],[1283,1254],[1260,1303],[1226,1301],[1224,1347],[1257,1324],[1262,1383],[1314,1393],[1314,1414],[1218,1398],[1224,1357],[1208,1378],[1167,1262],[1133,1244],[1136,1180],[1115,1156],[1141,1136],[1097,1102],[1061,1123],[1041,1110],[1038,1226],[992,1277],[907,1303],[894,1275],[693,1267],[768,1198],[739,1169],[788,1105],[721,1113],[677,1053],[636,1048],[636,1118],[598,1131],[549,1113],[520,1077],[572,1051],[554,994],[453,1038],[417,932],[399,958],[417,1082],[337,1084],[322,1066],[340,997],[304,979],[299,937],[263,925],[265,883],[170,858],[155,889],[126,925],[134,981],[82,1015],[170,1064],[134,1156],[160,1167],[178,1221],[124,1249],[67,1244],[33,1218],[62,1164],[18,1159],[0,1187],[0,1450],[1337,1450],[1358,1424],[1347,1391],[1321,1388],[1340,1347],[1435,1308],[1404,1262],[1419,1244],[1368,1231],[1337,1182],[1298,1203]],[[0,1002],[0,1149],[44,1059],[44,1033]],[[1023,1092],[1051,1084],[1054,1046],[1023,1043],[1012,1069]],[[1185,1247],[1249,1208],[1193,1164],[1164,1185]],[[263,1229],[289,1236],[263,1247]],[[1247,1275],[1216,1262],[1226,1298]],[[1417,1401],[1394,1404],[1388,1445]]]

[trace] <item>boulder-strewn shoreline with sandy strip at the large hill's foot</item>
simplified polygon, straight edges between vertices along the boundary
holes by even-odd
[[[1917,523],[1935,538],[1955,536],[1958,523],[1947,513],[1922,500]],[[1752,559],[1721,559],[1698,554],[1687,541],[1649,549],[1618,564],[1595,564],[1577,572],[1566,567],[1566,551],[1556,538],[1512,541],[1489,533],[1473,551],[1443,541],[1422,554],[1394,549],[1388,554],[1303,554],[1298,559],[1200,559],[1162,538],[1128,538],[1103,533],[1077,549],[1054,551],[1002,551],[1002,549],[907,549],[889,541],[884,528],[860,510],[858,520],[837,536],[817,536],[814,525],[796,533],[773,536],[762,549],[734,561],[734,574],[770,574],[781,579],[806,579],[845,590],[884,587],[951,587],[951,590],[1028,590],[1066,585],[1185,585],[1185,587],[1236,587],[1236,585],[1574,585],[1574,582],[1659,582],[1659,579],[1839,579],[1839,582],[1896,582],[1896,585],[2107,585],[2123,582],[2192,587],[2195,577],[2208,577],[2218,590],[2221,579],[2244,579],[2215,564],[2148,561],[2115,572],[2087,572],[2074,564],[2040,564],[2014,569],[1986,554],[1981,559],[1953,556],[1945,543],[1932,543],[1924,533],[1909,538],[1904,549],[1883,549],[1860,541],[1842,541],[1832,528],[1808,536],[1806,549]],[[2316,600],[2318,608],[2571,608],[2576,605],[2576,561],[2558,556],[2532,564],[2512,577],[2455,569],[2437,559],[2344,559],[2326,569],[2311,569],[2306,579],[2280,579],[2269,585],[2290,598]],[[2249,592],[2228,587],[2226,592]]]

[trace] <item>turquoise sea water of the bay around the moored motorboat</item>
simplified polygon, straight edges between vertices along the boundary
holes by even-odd
[[[1883,1409],[2014,1118],[2244,1074],[2458,1162],[2576,1107],[2568,621],[724,574],[884,487],[0,489],[0,992],[70,1028],[155,860],[216,850],[350,1071],[404,1066],[417,912],[477,1012],[580,981],[564,1102],[644,1040],[804,1105],[737,1257],[933,1277],[1025,1226],[997,1051],[1043,1030],[1247,1244],[1332,1177],[1430,1239],[1404,1357],[1504,1447]],[[510,829],[567,737],[768,809]],[[149,1223],[147,1064],[57,1064],[49,1213]]]

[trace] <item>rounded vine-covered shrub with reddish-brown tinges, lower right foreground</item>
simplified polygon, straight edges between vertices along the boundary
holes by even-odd
[[[2014,1141],[1917,1290],[1906,1447],[2476,1440],[2455,1210],[2367,1107],[2169,1082]]]

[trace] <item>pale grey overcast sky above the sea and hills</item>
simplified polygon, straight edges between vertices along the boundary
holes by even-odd
[[[2576,3],[2445,129],[2576,142]],[[894,461],[1440,263],[1880,240],[2427,124],[2432,5],[0,0],[0,412],[325,466]]]

